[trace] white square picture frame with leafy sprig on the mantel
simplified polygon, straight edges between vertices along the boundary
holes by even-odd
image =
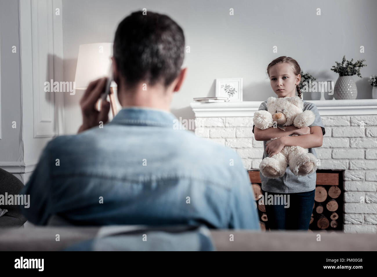
[[[216,79],[216,97],[228,97],[229,102],[242,102],[242,78]]]

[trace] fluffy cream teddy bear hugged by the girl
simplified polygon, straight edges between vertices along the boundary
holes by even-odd
[[[294,97],[269,97],[267,111],[258,110],[254,113],[255,127],[265,130],[270,127],[294,125],[297,128],[308,127],[313,124],[315,115],[312,111],[303,111],[303,101],[299,96]],[[296,135],[293,135],[296,136]],[[267,143],[273,138],[267,141]],[[317,170],[317,158],[308,149],[300,146],[284,146],[284,148],[271,157],[266,157],[259,164],[262,175],[277,179],[284,176],[289,165],[296,176],[305,176]]]

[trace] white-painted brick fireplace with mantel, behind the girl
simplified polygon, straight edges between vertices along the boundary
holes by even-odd
[[[195,134],[233,148],[247,170],[259,170],[263,142],[253,135],[262,101],[191,103]],[[344,232],[377,233],[377,99],[309,101],[325,126],[318,169],[344,170]],[[363,199],[364,203],[360,203]]]

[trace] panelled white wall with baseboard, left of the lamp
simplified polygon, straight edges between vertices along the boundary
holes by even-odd
[[[46,143],[63,133],[61,0],[0,0],[0,167],[28,181]],[[16,52],[12,52],[12,47]],[[12,121],[16,128],[12,128]]]

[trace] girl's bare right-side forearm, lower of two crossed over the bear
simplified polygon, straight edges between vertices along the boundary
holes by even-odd
[[[302,148],[315,148],[322,146],[323,135],[321,127],[313,126],[310,127],[309,135],[284,136],[280,139],[285,146],[301,146]]]

